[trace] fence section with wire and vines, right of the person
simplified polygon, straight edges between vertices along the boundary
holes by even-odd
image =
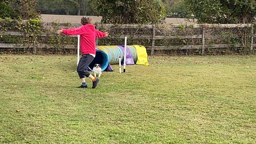
[[[132,42],[138,39],[146,43],[149,54],[168,53],[171,50],[196,50],[198,54],[211,54],[211,50],[232,50],[236,53],[252,53],[256,47],[253,24],[196,24],[196,25],[97,25],[100,30],[113,32],[113,39],[127,36]],[[144,30],[142,33],[139,30]],[[121,29],[115,30],[115,29]],[[126,29],[126,31],[125,31]],[[134,29],[134,31],[127,31]],[[122,32],[123,30],[123,32]],[[109,38],[111,39],[111,38]],[[177,42],[177,40],[179,42]],[[159,42],[163,42],[160,44]],[[130,44],[132,44],[132,42]],[[235,51],[234,51],[235,50]]]

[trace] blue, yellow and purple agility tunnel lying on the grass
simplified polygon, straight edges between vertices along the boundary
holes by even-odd
[[[113,71],[111,65],[119,64],[118,57],[121,56],[122,64],[124,63],[124,45],[97,46],[96,55],[88,70],[93,71],[93,66],[98,63],[102,71]],[[126,46],[126,65],[146,65],[148,64],[148,54],[146,48],[141,45]]]

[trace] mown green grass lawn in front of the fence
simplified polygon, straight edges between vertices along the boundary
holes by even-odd
[[[76,89],[76,56],[0,55],[0,143],[256,142],[256,55],[148,62]]]

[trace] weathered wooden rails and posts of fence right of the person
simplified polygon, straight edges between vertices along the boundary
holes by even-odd
[[[104,25],[106,28],[109,27],[115,27],[115,25]],[[140,27],[139,25],[122,25],[120,27],[116,28],[137,28]],[[256,33],[254,34],[254,27],[253,24],[195,24],[195,25],[172,25],[172,28],[201,28],[202,34],[197,35],[175,35],[175,36],[164,36],[164,35],[156,35],[156,25],[144,25],[143,28],[152,29],[153,34],[152,35],[112,35],[111,38],[119,38],[124,39],[125,36],[127,38],[133,38],[133,39],[151,39],[151,55],[154,54],[155,50],[171,50],[171,49],[201,49],[202,54],[205,53],[206,48],[214,49],[214,48],[242,48],[245,47],[243,43],[239,44],[207,44],[207,39],[221,39],[223,38],[223,35],[220,34],[209,34],[208,29],[218,29],[218,28],[250,28],[251,34],[250,34],[250,51],[253,52],[253,48],[256,46],[254,44],[254,40],[256,39]],[[225,37],[230,37],[230,34],[225,34]],[[232,34],[233,38],[239,38],[242,37],[241,34]],[[201,39],[202,44],[200,45],[164,45],[164,46],[158,46],[156,44],[156,40],[168,40],[168,39]]]

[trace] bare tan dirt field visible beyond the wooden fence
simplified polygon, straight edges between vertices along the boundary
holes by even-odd
[[[70,23],[79,23],[83,16],[77,15],[54,15],[54,14],[41,14],[43,21],[58,21],[58,22],[70,22]],[[88,16],[92,19],[92,23],[100,22],[102,17],[99,16]],[[193,22],[188,22],[186,19],[182,18],[166,18],[166,23],[173,24],[194,24]]]

